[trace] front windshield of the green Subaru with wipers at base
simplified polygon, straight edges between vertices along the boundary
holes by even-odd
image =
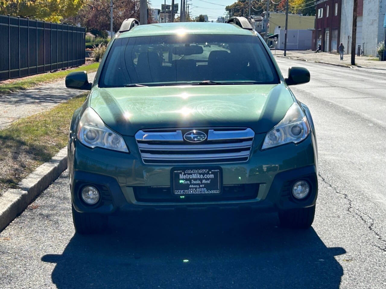
[[[164,86],[204,81],[274,84],[279,79],[256,36],[158,35],[115,40],[99,86]]]

